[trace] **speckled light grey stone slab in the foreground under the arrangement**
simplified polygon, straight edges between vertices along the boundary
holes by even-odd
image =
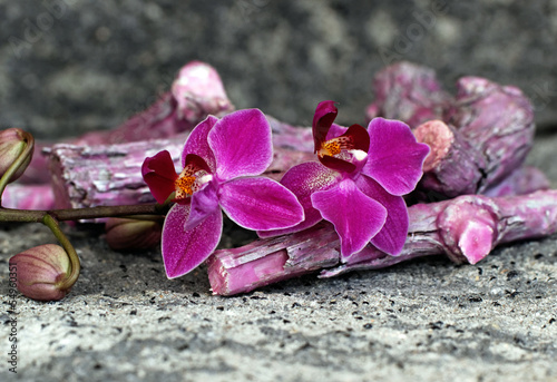
[[[528,159],[551,172],[557,137]],[[82,261],[70,295],[18,296],[8,258],[52,242],[39,225],[0,231],[0,346],[18,321],[18,374],[2,381],[553,381],[557,236],[500,247],[476,265],[443,257],[378,272],[304,276],[233,297],[204,268],[168,281],[158,251],[110,251],[68,228]],[[222,245],[253,239],[225,225]]]

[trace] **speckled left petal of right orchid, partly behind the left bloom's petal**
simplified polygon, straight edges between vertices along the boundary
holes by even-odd
[[[257,232],[261,237],[291,234],[309,228],[323,219],[321,213],[313,208],[311,195],[317,190],[333,187],[340,182],[339,173],[326,168],[317,161],[307,161],[294,166],[284,174],[281,184],[297,197],[304,209],[304,221],[293,227],[266,232]]]

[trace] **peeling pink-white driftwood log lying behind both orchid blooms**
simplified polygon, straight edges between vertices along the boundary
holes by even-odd
[[[50,149],[50,172],[56,207],[153,203],[155,199],[141,177],[145,158],[168,150],[179,173],[187,135],[121,145],[55,145]],[[280,179],[290,167],[310,160],[315,160],[311,153],[274,147],[273,161],[263,175]]]

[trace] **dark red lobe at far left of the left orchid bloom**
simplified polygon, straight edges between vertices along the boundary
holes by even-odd
[[[164,204],[175,192],[174,182],[178,178],[170,153],[160,151],[145,158],[141,165],[141,176],[158,204]]]

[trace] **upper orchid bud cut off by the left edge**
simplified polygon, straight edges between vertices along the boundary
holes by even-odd
[[[28,145],[33,145],[33,138],[29,133],[19,128],[12,127],[0,131],[0,177],[8,172],[10,166],[26,150]],[[32,150],[25,161],[19,166],[17,172],[11,176],[9,182],[13,182],[23,174],[27,166],[31,161]]]

